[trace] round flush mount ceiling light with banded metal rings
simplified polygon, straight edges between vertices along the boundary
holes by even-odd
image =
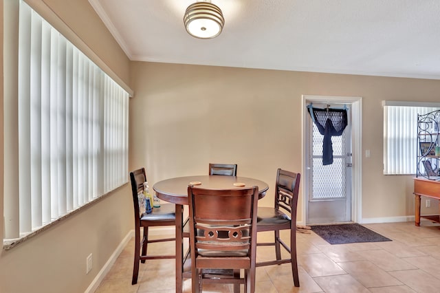
[[[221,33],[224,23],[220,8],[210,2],[196,2],[186,8],[185,28],[188,34],[196,38],[215,38]]]

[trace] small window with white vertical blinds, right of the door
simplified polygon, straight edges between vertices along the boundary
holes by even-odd
[[[417,114],[440,109],[439,103],[384,101],[384,174],[415,174]]]

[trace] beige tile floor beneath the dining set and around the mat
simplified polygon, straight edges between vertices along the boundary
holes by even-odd
[[[314,232],[298,233],[301,286],[294,287],[287,263],[257,268],[256,292],[440,292],[439,224],[422,219],[420,227],[414,222],[364,226],[393,241],[330,245]],[[154,245],[148,250],[174,251],[174,242]],[[132,239],[96,293],[175,292],[174,259],[141,263],[138,282],[131,285],[133,246]],[[272,248],[257,249],[258,259],[271,256]],[[184,292],[190,292],[190,280]],[[232,292],[232,287],[203,285],[203,292]]]

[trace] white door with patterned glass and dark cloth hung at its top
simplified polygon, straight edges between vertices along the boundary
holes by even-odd
[[[331,136],[333,163],[323,164],[323,139],[311,116],[306,118],[305,167],[307,177],[306,223],[327,224],[352,221],[351,215],[351,105],[331,102],[314,102],[321,109],[347,109],[347,127],[342,135]],[[327,112],[328,114],[328,112]],[[325,112],[322,113],[325,118]],[[328,158],[328,155],[325,155]]]

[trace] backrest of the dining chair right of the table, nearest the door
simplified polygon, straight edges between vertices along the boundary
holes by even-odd
[[[296,219],[296,206],[300,191],[300,173],[278,169],[276,172],[275,208],[283,208]]]

